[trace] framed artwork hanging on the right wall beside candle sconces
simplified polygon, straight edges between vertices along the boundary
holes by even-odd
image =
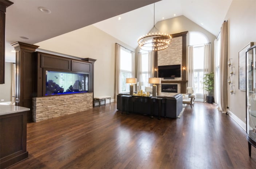
[[[253,42],[250,42],[248,45],[246,45],[243,49],[241,49],[238,52],[238,62],[239,62],[239,90],[241,91],[245,91],[245,87],[246,87],[246,79],[245,79],[245,52],[247,51],[248,48],[250,48],[251,46],[253,46]]]

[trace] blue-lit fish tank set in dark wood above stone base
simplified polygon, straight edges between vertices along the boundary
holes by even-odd
[[[45,76],[46,96],[88,92],[88,74],[47,70]]]

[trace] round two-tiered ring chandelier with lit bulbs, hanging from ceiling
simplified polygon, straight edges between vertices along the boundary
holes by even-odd
[[[171,42],[171,35],[161,33],[155,26],[155,3],[154,3],[154,26],[148,34],[138,39],[140,49],[146,51],[159,51],[168,48]]]

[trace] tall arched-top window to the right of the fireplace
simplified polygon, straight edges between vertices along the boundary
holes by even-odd
[[[193,46],[194,84],[199,99],[203,99],[204,44],[208,42],[203,33],[189,32],[189,45]]]

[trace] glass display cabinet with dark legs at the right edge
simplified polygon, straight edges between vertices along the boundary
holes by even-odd
[[[246,51],[246,139],[256,148],[256,45]]]

